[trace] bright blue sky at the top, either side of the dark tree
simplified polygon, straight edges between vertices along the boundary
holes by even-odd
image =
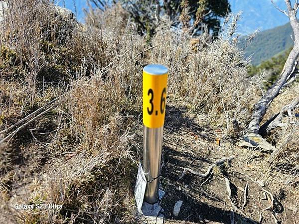
[[[275,0],[277,5],[284,8],[284,0]],[[79,21],[84,21],[83,8],[87,8],[87,0],[56,0],[59,5],[77,12]],[[287,16],[278,11],[271,0],[229,0],[232,12],[243,11],[239,21],[238,32],[249,34],[257,28],[261,30],[270,29],[288,22]],[[76,7],[75,7],[76,5]]]

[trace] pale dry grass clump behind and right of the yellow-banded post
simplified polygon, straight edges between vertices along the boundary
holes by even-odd
[[[192,112],[204,114],[204,125],[225,127],[224,136],[232,135],[232,119],[245,127],[260,80],[247,77],[249,62],[235,42],[223,31],[218,39],[207,40],[207,34],[194,42],[188,34],[177,33],[161,25],[152,39],[157,47],[149,63],[161,63],[170,69],[169,95],[179,98]],[[228,27],[231,28],[231,27]]]

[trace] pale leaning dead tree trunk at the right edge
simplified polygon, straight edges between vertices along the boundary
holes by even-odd
[[[274,3],[273,0],[271,0],[272,3],[277,7],[277,5]],[[286,14],[289,19],[292,26],[292,29],[294,31],[294,47],[286,61],[286,64],[284,66],[284,69],[279,76],[278,80],[268,89],[265,96],[263,96],[259,102],[254,106],[254,112],[252,114],[252,119],[249,123],[249,126],[247,128],[247,133],[255,133],[258,134],[260,130],[260,122],[265,115],[269,105],[274,100],[274,98],[277,97],[280,90],[284,87],[284,85],[293,79],[294,70],[296,67],[296,60],[299,56],[299,22],[296,18],[296,14],[299,8],[298,0],[295,1],[294,7],[292,7],[290,0],[285,0],[287,4],[288,11],[281,10],[278,8],[281,12]]]

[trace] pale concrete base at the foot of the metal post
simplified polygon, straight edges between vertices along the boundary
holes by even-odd
[[[143,202],[141,212],[138,213],[138,218],[143,224],[163,224],[164,211],[160,206],[161,200],[164,197],[165,192],[159,189],[159,202],[153,205],[150,205],[147,202]]]

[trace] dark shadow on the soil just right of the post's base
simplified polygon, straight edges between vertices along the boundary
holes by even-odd
[[[187,153],[180,153],[170,147],[164,147],[164,167],[162,168],[161,184],[166,192],[162,201],[162,208],[166,220],[180,220],[194,223],[231,223],[231,211],[221,207],[225,201],[219,197],[219,192],[214,194],[213,189],[207,188],[202,183],[206,180],[194,175],[186,175],[179,179],[183,167],[193,167],[193,169],[203,168],[203,165],[196,167],[189,165],[192,156]],[[179,159],[180,158],[180,159]],[[200,164],[207,164],[204,159],[197,158]],[[213,187],[213,186],[212,186]],[[217,189],[215,189],[217,190]],[[227,194],[224,192],[224,194]],[[175,203],[183,201],[178,217],[173,216]],[[226,205],[230,208],[230,205]],[[235,219],[242,220],[242,223],[256,223],[235,214]]]

